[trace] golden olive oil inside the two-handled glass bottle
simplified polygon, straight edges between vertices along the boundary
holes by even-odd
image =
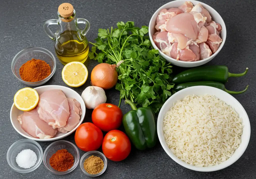
[[[56,55],[62,64],[72,61],[84,63],[88,58],[89,46],[86,37],[79,37],[79,31],[66,30],[57,37],[54,46]]]

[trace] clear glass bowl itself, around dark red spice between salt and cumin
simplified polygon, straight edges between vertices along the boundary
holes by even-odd
[[[69,153],[71,153],[74,157],[74,164],[73,166],[68,169],[67,171],[65,172],[59,172],[55,169],[53,169],[50,165],[50,158],[51,156],[57,152],[57,150],[61,150],[61,149],[67,149]],[[59,141],[56,141],[56,142],[53,142],[51,143],[46,149],[45,149],[45,152],[44,152],[44,156],[43,156],[43,161],[44,161],[44,164],[46,166],[46,168],[51,172],[51,173],[54,173],[56,175],[66,175],[70,172],[72,172],[78,165],[79,163],[79,151],[77,149],[77,147],[69,142],[69,141],[66,141],[66,140],[59,140]]]

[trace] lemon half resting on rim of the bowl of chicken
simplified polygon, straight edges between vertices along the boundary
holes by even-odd
[[[39,95],[35,89],[22,88],[14,95],[14,105],[22,111],[34,109],[39,101]]]

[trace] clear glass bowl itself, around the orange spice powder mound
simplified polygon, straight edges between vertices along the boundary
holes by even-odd
[[[27,61],[33,58],[44,60],[46,63],[48,63],[51,67],[51,74],[48,77],[46,77],[44,80],[37,81],[37,82],[27,82],[21,79],[19,75],[19,69],[24,63],[26,63]],[[39,86],[46,83],[53,76],[55,70],[56,70],[56,60],[54,55],[49,50],[41,47],[26,48],[20,51],[19,53],[17,53],[12,61],[13,74],[16,76],[16,78],[20,82],[28,86]]]

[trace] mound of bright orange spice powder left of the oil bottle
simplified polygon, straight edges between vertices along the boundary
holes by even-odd
[[[51,67],[43,60],[32,59],[24,63],[19,69],[22,80],[37,82],[45,79],[51,74]]]

